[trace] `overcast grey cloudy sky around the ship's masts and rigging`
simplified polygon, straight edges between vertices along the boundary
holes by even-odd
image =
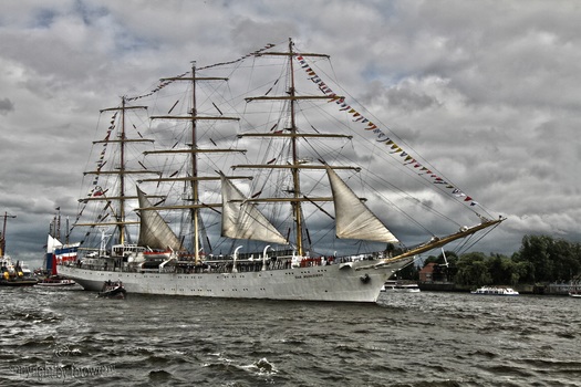
[[[4,2],[7,252],[41,259],[54,209],[74,216],[98,109],[193,60],[290,36],[330,54],[351,95],[508,217],[476,250],[510,254],[525,234],[579,242],[580,20],[577,0]]]

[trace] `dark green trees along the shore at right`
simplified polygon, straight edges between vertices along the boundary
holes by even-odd
[[[444,257],[445,254],[445,257]],[[424,266],[434,262],[434,278],[445,278],[459,285],[539,284],[581,280],[581,243],[548,236],[525,236],[519,251],[511,257],[483,252],[457,255],[429,255]],[[418,266],[407,266],[401,279],[419,279]]]

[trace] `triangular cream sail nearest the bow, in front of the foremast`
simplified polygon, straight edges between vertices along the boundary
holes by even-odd
[[[335,233],[342,239],[363,239],[377,242],[397,242],[377,217],[371,212],[357,196],[341,180],[331,167],[326,175],[335,205]]]

